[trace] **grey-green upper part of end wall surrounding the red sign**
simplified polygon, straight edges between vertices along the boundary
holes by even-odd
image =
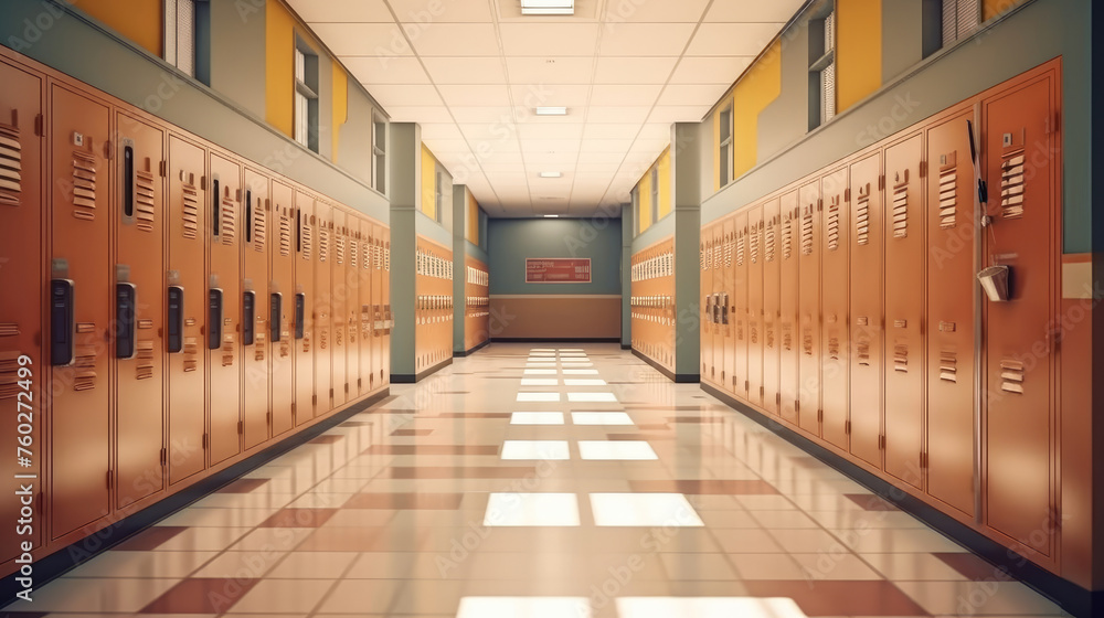
[[[620,219],[492,219],[490,294],[620,295]],[[527,284],[527,257],[588,257],[590,284]]]

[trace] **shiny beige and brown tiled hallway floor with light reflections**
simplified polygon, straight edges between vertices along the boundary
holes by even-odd
[[[1063,616],[616,345],[495,344],[392,393],[9,610]]]

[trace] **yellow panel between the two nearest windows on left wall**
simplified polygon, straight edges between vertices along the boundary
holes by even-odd
[[[284,4],[265,11],[265,118],[295,137],[295,19]]]

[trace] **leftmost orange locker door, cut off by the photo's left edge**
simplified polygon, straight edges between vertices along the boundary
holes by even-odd
[[[42,113],[42,81],[0,62],[0,246],[7,262],[0,267],[0,289],[19,302],[0,302],[0,444],[14,449],[17,441],[30,436],[32,450],[42,444],[40,427],[44,420],[41,388],[47,371],[41,352],[42,337],[42,138],[35,135],[36,117]],[[4,297],[6,300],[9,298]],[[20,359],[23,359],[22,363]],[[21,371],[22,370],[22,371]],[[23,416],[21,416],[23,415]],[[25,424],[25,425],[24,425]],[[28,429],[26,434],[18,429]],[[41,449],[40,449],[41,450]],[[41,475],[41,458],[31,466],[18,466],[14,452],[0,460],[0,516],[6,522],[20,518],[19,500],[11,499],[20,489],[14,475]],[[19,455],[22,455],[21,452]],[[25,482],[25,481],[24,481]],[[40,497],[34,508],[41,512]],[[33,536],[0,536],[0,563],[22,552],[20,542],[42,544],[42,526]]]

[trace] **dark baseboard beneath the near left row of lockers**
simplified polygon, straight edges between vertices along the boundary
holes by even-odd
[[[288,436],[287,438],[284,438],[283,440],[238,461],[237,464],[234,464],[223,470],[219,470],[210,477],[201,481],[197,481],[194,484],[191,484],[172,496],[168,496],[164,499],[150,504],[137,513],[113,523],[108,529],[93,533],[66,547],[59,548],[49,556],[34,561],[34,589],[31,593],[32,597],[41,590],[42,586],[46,585],[51,580],[61,577],[68,571],[76,568],[87,561],[103,554],[104,552],[126,541],[128,537],[146,530],[150,525],[183,509],[184,507],[188,507],[192,502],[195,502],[200,498],[206,497],[224,484],[237,480],[242,475],[251,472],[268,461],[272,461],[276,457],[279,457],[285,452],[317,438],[327,429],[343,423],[350,416],[354,416],[379,403],[381,399],[388,397],[390,393],[390,388],[380,391],[364,401],[357,402],[349,407],[335,413],[325,420],[311,425],[297,434]],[[109,532],[109,534],[105,534],[106,532]],[[87,543],[91,537],[96,537],[98,540],[98,546],[93,546],[92,543]],[[15,597],[15,593],[22,590],[23,587],[15,582],[18,576],[19,573],[17,572],[4,577],[3,579],[0,579],[0,608],[19,600]],[[33,610],[34,601],[23,601],[22,605],[18,606],[18,611],[20,612]],[[11,616],[22,615],[23,614],[11,614]],[[9,616],[9,612],[0,612],[0,616]]]

